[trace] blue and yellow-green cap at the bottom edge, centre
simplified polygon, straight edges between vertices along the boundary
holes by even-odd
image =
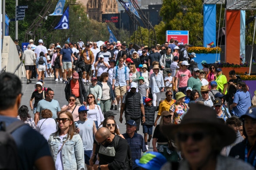
[[[147,170],[160,170],[166,162],[166,158],[161,153],[157,152],[146,152],[142,155],[140,160],[135,160],[135,163],[139,167]]]

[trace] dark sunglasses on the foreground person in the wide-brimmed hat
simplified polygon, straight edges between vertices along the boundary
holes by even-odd
[[[206,133],[206,132],[178,133],[177,137],[179,141],[186,142],[188,138],[191,136],[193,141],[199,142],[203,140],[206,137],[206,135],[209,135],[209,133]]]

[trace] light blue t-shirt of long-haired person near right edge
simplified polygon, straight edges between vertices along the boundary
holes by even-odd
[[[232,109],[231,113],[240,118],[252,105],[249,91],[246,91],[245,93],[242,90],[237,90],[234,95],[233,103],[236,103],[237,105]]]

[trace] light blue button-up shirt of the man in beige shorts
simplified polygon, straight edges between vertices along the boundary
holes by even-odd
[[[129,69],[126,68],[125,73],[125,66],[123,65],[120,69],[119,66],[115,66],[113,70],[113,79],[116,80],[115,87],[122,87],[127,86],[126,80],[129,80]]]

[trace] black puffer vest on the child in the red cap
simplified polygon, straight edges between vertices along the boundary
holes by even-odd
[[[145,109],[145,119],[146,121],[144,123],[142,123],[141,121],[141,124],[142,125],[154,125],[155,123],[155,111],[158,111],[158,108],[159,106],[147,106],[145,105],[144,106],[144,109]],[[142,119],[141,119],[142,120]]]

